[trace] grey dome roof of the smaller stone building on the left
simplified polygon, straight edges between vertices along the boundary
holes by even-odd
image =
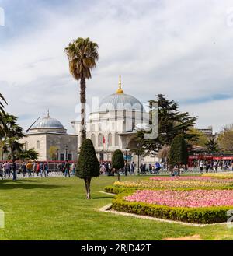
[[[60,121],[55,118],[51,118],[48,114],[47,117],[41,118],[37,124],[34,124],[29,131],[29,133],[41,132],[66,133],[66,129]]]

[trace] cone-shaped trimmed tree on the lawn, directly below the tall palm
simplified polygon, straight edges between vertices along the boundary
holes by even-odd
[[[76,176],[85,181],[86,198],[90,199],[92,177],[99,176],[99,161],[91,139],[85,139],[82,142],[76,167]]]

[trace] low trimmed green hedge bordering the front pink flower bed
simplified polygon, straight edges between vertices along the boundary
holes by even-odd
[[[186,223],[224,223],[227,221],[227,211],[233,206],[213,207],[169,207],[166,205],[152,205],[142,202],[127,202],[123,199],[129,193],[123,193],[113,199],[113,209],[119,212],[135,213],[160,219],[171,219]]]

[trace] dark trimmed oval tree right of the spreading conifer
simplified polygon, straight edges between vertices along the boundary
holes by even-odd
[[[178,175],[180,165],[188,163],[188,149],[183,135],[176,135],[172,140],[171,149],[169,151],[169,165],[178,167]]]

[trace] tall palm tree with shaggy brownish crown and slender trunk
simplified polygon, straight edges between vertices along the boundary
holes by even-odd
[[[80,80],[80,102],[81,102],[81,143],[86,139],[85,128],[85,79],[92,78],[91,70],[96,67],[96,61],[99,59],[98,44],[89,40],[89,38],[78,37],[73,40],[65,53],[68,56],[70,73],[78,81]]]

